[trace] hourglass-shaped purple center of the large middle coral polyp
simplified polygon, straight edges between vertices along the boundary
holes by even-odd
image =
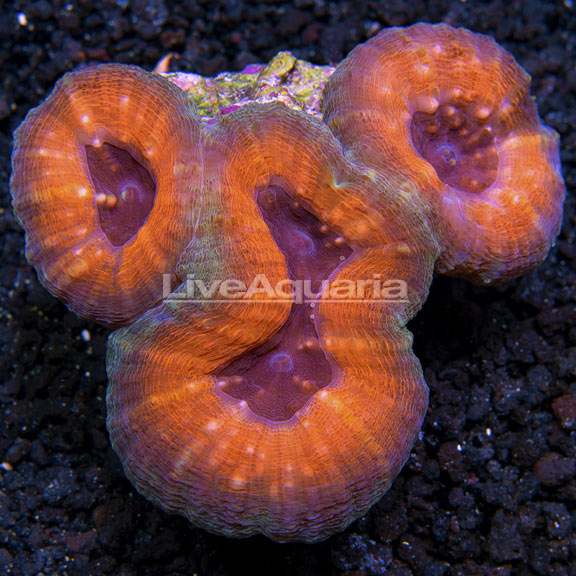
[[[311,291],[318,292],[352,249],[279,186],[257,191],[256,202],[286,258],[290,280],[308,281]],[[282,328],[216,377],[223,393],[244,400],[254,414],[268,420],[289,420],[333,378],[316,332],[316,304],[306,299],[314,298],[304,294],[301,302],[295,297]]]

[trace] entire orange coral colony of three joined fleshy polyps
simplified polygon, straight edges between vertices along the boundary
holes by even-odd
[[[406,323],[433,273],[525,273],[564,197],[558,137],[487,37],[390,29],[299,66],[291,90],[231,76],[220,113],[206,79],[70,73],[11,180],[41,281],[119,328],[108,428],[138,490],[281,541],[343,529],[405,463],[428,402]]]

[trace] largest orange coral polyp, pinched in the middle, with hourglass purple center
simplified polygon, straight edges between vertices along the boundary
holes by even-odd
[[[410,298],[169,301],[111,338],[108,428],[128,476],[164,508],[228,535],[321,539],[388,489],[420,429],[427,387],[404,325],[428,290],[436,243],[422,214],[347,162],[317,120],[247,106],[206,132],[205,181],[214,185],[180,277],[314,280],[330,261],[320,251],[333,230],[351,250],[331,242],[326,277],[378,271],[403,279]],[[274,230],[266,215],[282,210],[283,197],[283,229]],[[309,243],[293,235],[282,251],[291,230]],[[279,358],[288,366],[255,367],[255,395],[246,371],[229,364]]]

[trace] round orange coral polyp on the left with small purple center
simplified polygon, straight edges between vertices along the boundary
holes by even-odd
[[[199,137],[156,74],[110,65],[60,80],[15,134],[10,181],[44,286],[111,326],[160,300],[193,230]]]

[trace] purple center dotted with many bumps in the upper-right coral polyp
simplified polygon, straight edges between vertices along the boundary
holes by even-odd
[[[412,142],[442,182],[458,190],[480,193],[498,175],[490,120],[479,120],[450,105],[439,106],[433,114],[415,112]]]

